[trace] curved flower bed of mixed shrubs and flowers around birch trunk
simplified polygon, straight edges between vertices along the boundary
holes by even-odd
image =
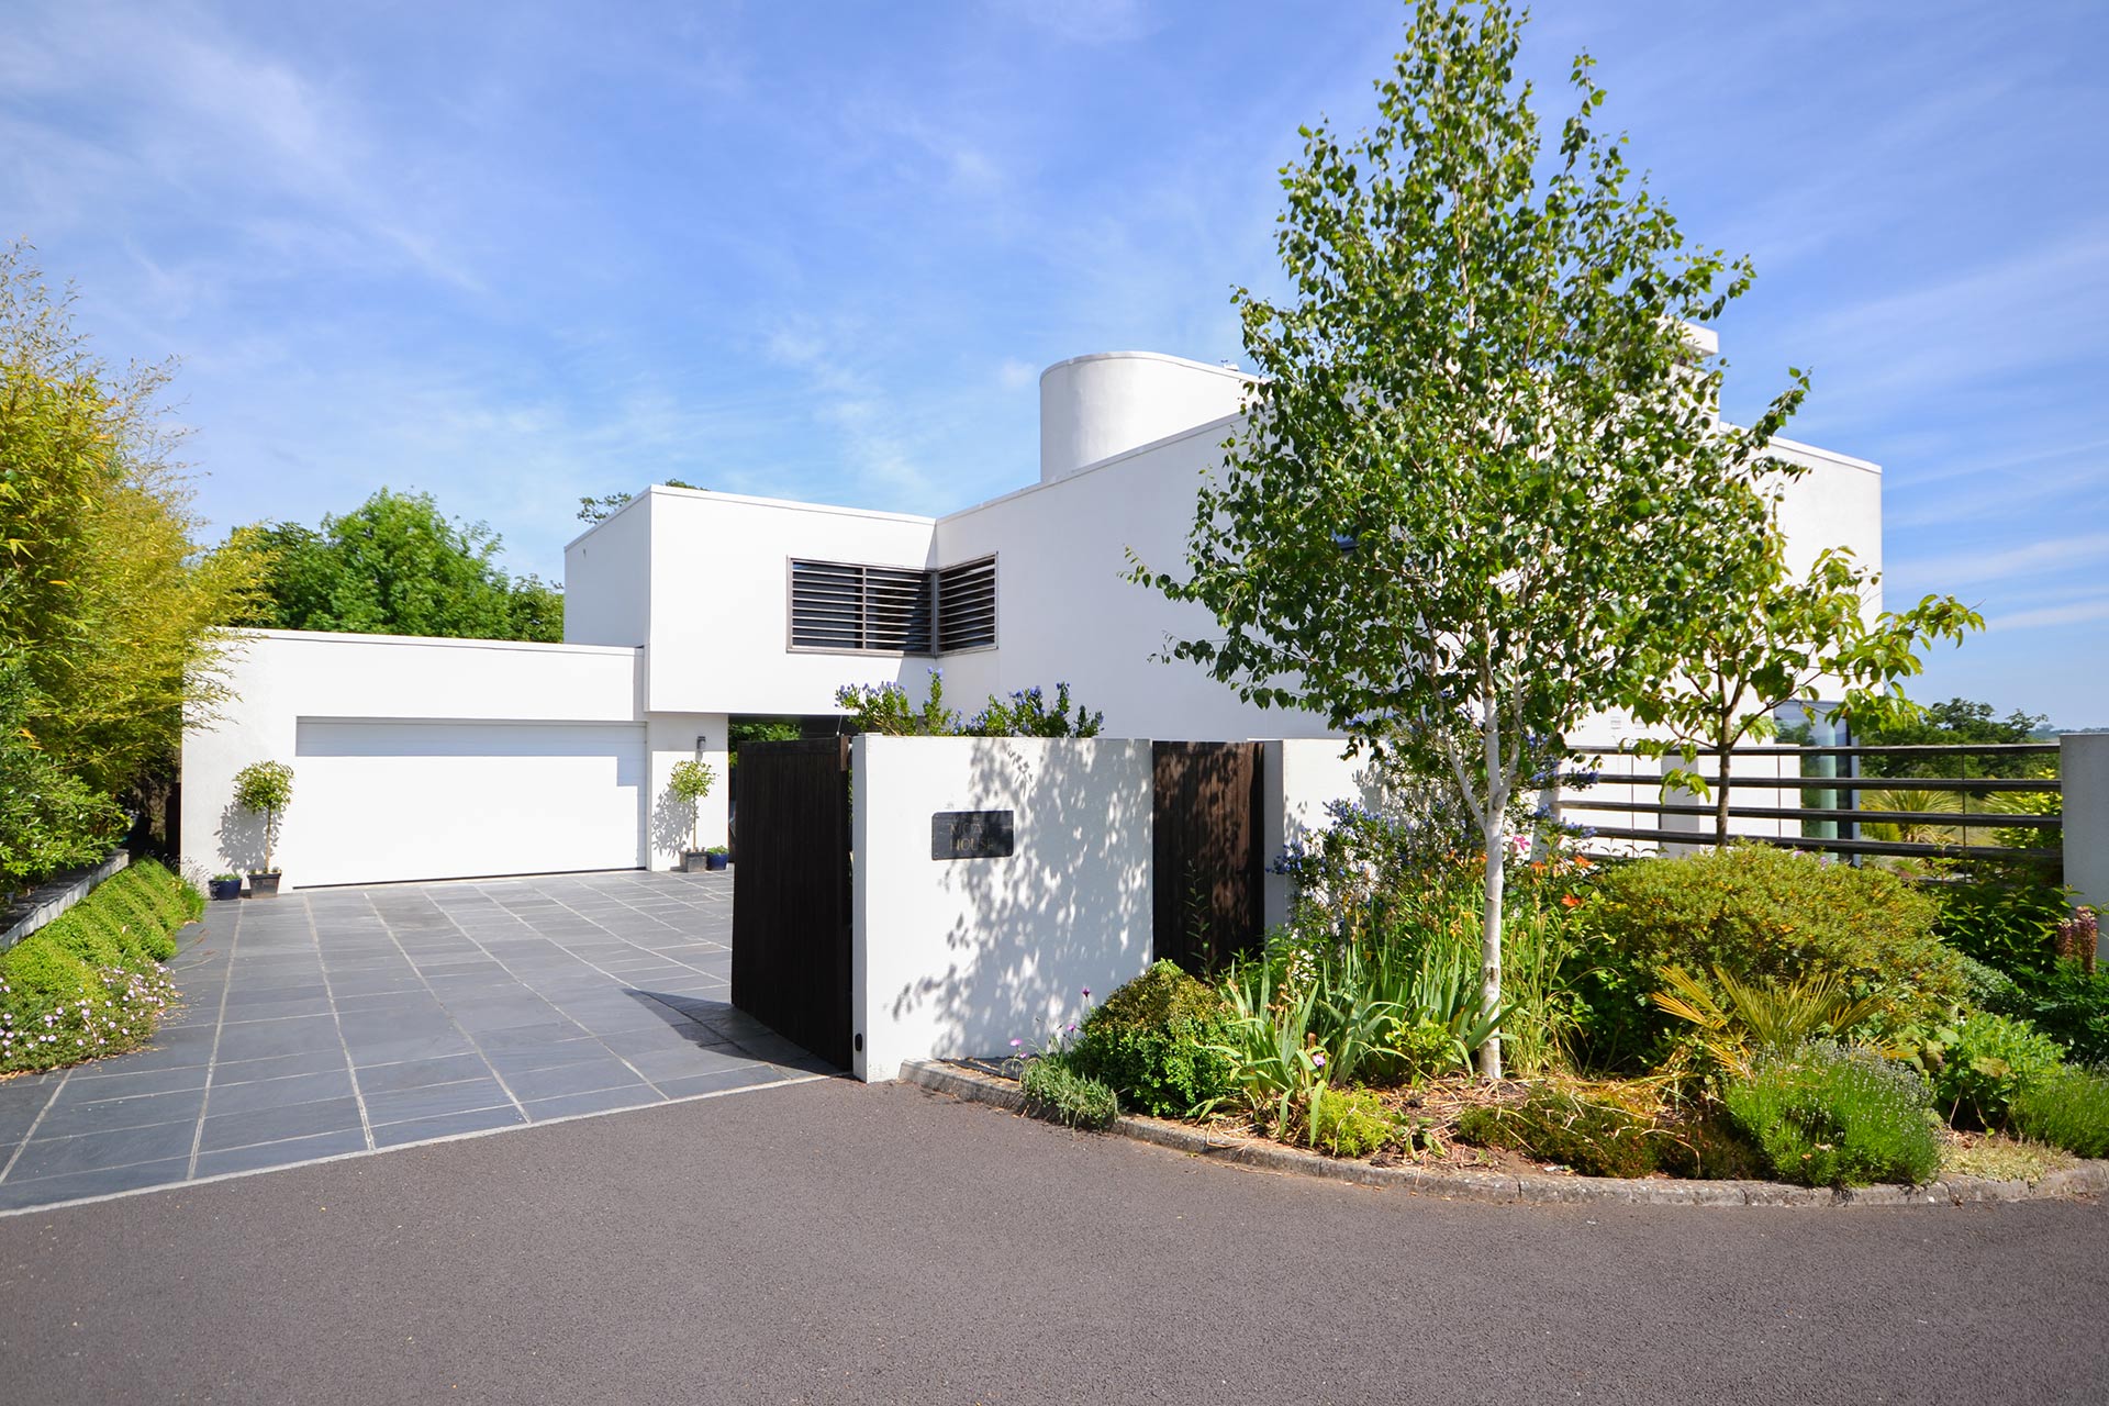
[[[1295,921],[1261,955],[1206,982],[1160,963],[1044,1050],[1040,1083],[1373,1166],[1843,1189],[2109,1153],[2109,1075],[2071,1058],[2109,1010],[2084,919],[2020,987],[1936,936],[1938,890],[1883,871],[1554,852],[1506,896],[1489,1012],[1478,858],[1400,828],[1343,807],[1284,864]],[[2073,1035],[1987,1010],[2029,999]],[[1478,1081],[1495,1033],[1510,1077]]]

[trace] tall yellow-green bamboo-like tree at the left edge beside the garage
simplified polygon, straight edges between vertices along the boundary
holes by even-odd
[[[51,295],[27,245],[0,249],[0,691],[27,744],[15,776],[42,776],[46,797],[6,809],[15,854],[72,854],[65,816],[103,843],[101,801],[171,774],[186,710],[226,689],[217,626],[262,563],[198,550],[167,382],[89,354],[72,295]]]

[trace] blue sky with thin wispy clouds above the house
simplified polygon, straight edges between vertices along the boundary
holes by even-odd
[[[580,493],[943,512],[1036,474],[1040,367],[1240,356],[1299,122],[1402,8],[13,4],[0,236],[114,360],[179,356],[215,527],[378,485],[561,575]],[[1561,0],[1687,232],[1757,259],[1729,409],[1885,466],[1892,603],[1987,634],[1913,689],[2109,725],[2098,0]]]

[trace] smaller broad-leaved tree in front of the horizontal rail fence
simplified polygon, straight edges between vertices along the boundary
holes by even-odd
[[[1715,609],[1658,637],[1649,668],[1626,698],[1637,721],[1660,729],[1632,750],[1683,757],[1685,767],[1664,774],[1664,784],[1713,797],[1717,845],[1729,837],[1731,753],[1778,736],[1780,704],[1835,691],[1831,717],[1854,729],[1909,723],[1917,706],[1896,683],[1923,668],[1919,653],[1985,628],[1985,618],[1955,597],[1871,611],[1881,575],[1843,548],[1820,552],[1807,573],[1793,578],[1778,523],[1731,546],[1725,567],[1715,580]],[[1687,769],[1702,753],[1713,759],[1715,782]]]

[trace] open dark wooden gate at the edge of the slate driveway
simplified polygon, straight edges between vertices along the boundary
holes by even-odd
[[[740,746],[732,1003],[850,1065],[850,740]]]

